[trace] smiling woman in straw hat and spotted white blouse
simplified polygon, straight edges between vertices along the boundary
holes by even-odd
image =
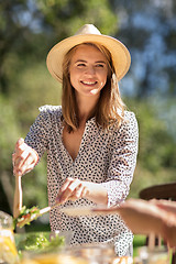
[[[31,170],[47,152],[50,206],[120,205],[136,163],[138,123],[124,110],[118,81],[130,67],[118,40],[84,25],[47,56],[52,76],[63,82],[62,107],[44,106],[25,138],[16,142],[13,173]],[[118,216],[69,218],[51,211],[52,230],[73,230],[72,244],[113,243],[132,254],[133,235]]]

